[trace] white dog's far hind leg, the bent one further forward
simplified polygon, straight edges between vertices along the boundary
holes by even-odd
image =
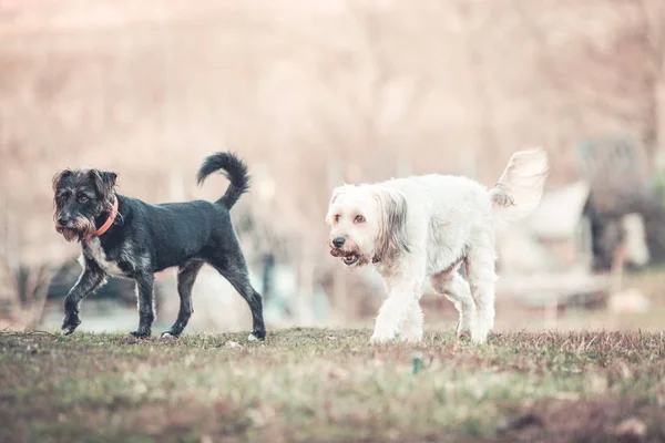
[[[471,337],[471,330],[475,326],[475,303],[471,298],[469,282],[462,278],[457,269],[449,272],[433,275],[430,278],[432,288],[446,296],[460,313],[457,328],[458,337]]]

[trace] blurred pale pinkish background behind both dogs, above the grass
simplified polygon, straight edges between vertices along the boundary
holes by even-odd
[[[371,269],[328,254],[332,187],[410,174],[493,186],[543,146],[540,208],[498,239],[497,330],[662,328],[662,0],[4,0],[0,2],[0,328],[57,329],[81,269],[52,223],[63,167],[147,202],[214,199],[214,151],[254,177],[234,223],[269,328],[371,324]],[[204,268],[205,269],[205,268]],[[174,271],[156,276],[160,327]],[[428,291],[431,292],[431,291]],[[428,293],[428,328],[450,302]],[[211,269],[187,330],[247,330]],[[83,302],[82,330],[129,331],[133,285]]]

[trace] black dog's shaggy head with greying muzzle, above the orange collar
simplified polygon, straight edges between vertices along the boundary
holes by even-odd
[[[53,178],[55,230],[68,241],[92,236],[96,218],[113,209],[114,173],[64,169]]]

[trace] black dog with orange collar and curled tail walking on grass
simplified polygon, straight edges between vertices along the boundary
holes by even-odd
[[[115,174],[65,169],[53,179],[55,230],[81,243],[83,272],[64,300],[62,333],[81,323],[81,300],[102,286],[106,276],[136,280],[139,329],[150,337],[154,315],[153,274],[178,267],[181,298],[177,320],[163,336],[180,336],[192,316],[192,286],[204,262],[212,265],[243,296],[254,322],[250,340],[266,330],[260,295],[249,284],[247,265],[231,224],[229,209],[249,187],[245,164],[231,153],[208,156],[198,169],[198,184],[224,171],[231,185],[217,202],[151,205],[115,193]]]

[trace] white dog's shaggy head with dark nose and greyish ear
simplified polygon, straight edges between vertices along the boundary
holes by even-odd
[[[330,255],[347,266],[377,262],[409,250],[407,200],[380,185],[344,185],[332,192],[326,223]]]

